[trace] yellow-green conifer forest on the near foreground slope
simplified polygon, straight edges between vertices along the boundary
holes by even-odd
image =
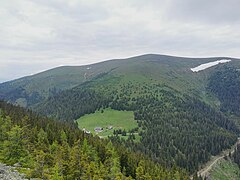
[[[0,101],[0,161],[41,179],[187,179],[74,124],[39,117]],[[19,166],[18,165],[18,166]]]

